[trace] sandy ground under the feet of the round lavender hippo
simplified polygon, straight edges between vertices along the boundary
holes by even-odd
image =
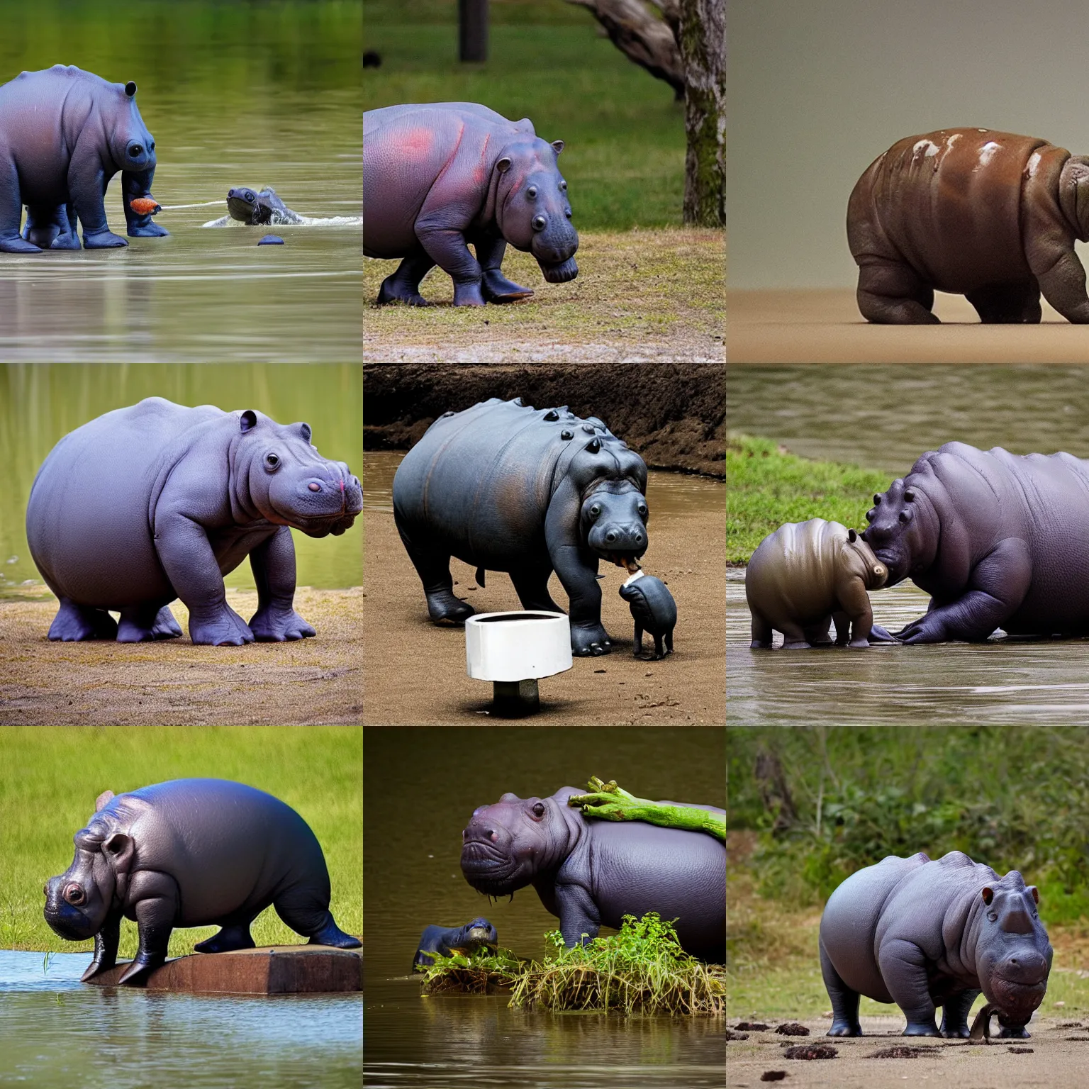
[[[40,589],[37,591],[40,596]],[[50,643],[56,601],[0,601],[0,725],[301,725],[362,719],[359,588],[295,595],[298,643]],[[228,592],[242,616],[257,594]],[[187,631],[188,611],[171,605]]]

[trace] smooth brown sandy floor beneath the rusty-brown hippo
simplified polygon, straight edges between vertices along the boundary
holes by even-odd
[[[962,295],[935,296],[940,326],[874,326],[854,289],[726,294],[731,364],[1089,363],[1089,329],[1047,303],[1036,326],[981,327]]]

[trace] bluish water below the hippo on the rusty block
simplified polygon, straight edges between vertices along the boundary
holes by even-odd
[[[4,1085],[358,1089],[358,994],[223,996],[81,983],[88,956],[0,952]],[[320,1070],[320,1077],[316,1072]]]

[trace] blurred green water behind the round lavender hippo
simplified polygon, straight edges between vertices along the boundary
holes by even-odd
[[[358,364],[8,364],[0,366],[0,595],[40,582],[26,544],[26,501],[35,474],[56,443],[102,413],[161,396],[178,404],[256,408],[279,423],[306,420],[314,444],[359,472],[363,367]],[[358,521],[340,537],[294,533],[298,585],[363,582]],[[249,564],[228,586],[253,588]]]

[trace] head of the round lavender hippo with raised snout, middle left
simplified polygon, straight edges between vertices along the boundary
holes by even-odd
[[[363,510],[359,481],[343,462],[318,453],[308,424],[277,424],[252,408],[237,420],[231,479],[242,512],[309,537],[351,527]]]

